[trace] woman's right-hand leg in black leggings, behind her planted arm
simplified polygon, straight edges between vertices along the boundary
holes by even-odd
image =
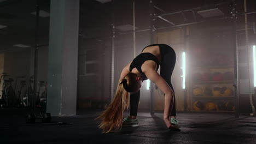
[[[160,49],[161,49],[161,53],[163,53],[161,64],[160,64],[161,65],[160,75],[165,79],[165,81],[168,83],[168,85],[172,88],[172,91],[174,92],[174,89],[171,83],[171,76],[176,63],[176,54],[171,47],[164,47],[164,48],[160,47]],[[171,51],[166,49],[171,49]],[[176,116],[175,94],[174,94],[173,107],[172,107],[170,116]]]

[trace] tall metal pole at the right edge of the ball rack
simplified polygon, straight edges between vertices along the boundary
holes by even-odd
[[[237,11],[236,0],[232,0],[232,22],[233,22],[233,49],[234,49],[234,97],[235,97],[235,118],[239,117],[239,92],[238,92],[238,59],[237,59]]]

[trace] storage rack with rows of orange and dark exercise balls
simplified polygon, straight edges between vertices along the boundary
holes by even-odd
[[[191,111],[235,111],[232,69],[231,65],[194,67]]]

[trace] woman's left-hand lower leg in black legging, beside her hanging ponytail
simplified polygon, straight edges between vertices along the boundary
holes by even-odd
[[[140,91],[130,95],[130,116],[137,116]]]

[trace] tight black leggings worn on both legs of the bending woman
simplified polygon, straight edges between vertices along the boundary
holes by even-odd
[[[165,44],[156,44],[156,45],[160,47],[160,52],[161,52],[160,75],[162,76],[162,78],[164,78],[164,80],[168,83],[168,85],[172,88],[172,91],[174,92],[174,89],[171,83],[171,76],[176,63],[176,54],[172,49],[172,47],[168,45],[165,45]],[[154,46],[154,45],[149,45],[149,46]],[[139,97],[140,97],[140,91],[136,93],[131,93],[130,95],[130,116],[137,116]],[[173,99],[172,112],[170,116],[176,116],[175,93],[174,93],[174,99]]]

